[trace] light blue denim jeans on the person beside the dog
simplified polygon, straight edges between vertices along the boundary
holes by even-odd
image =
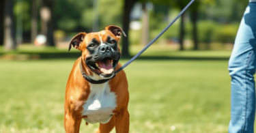
[[[253,132],[255,119],[256,3],[249,3],[229,59],[231,121],[229,133]]]

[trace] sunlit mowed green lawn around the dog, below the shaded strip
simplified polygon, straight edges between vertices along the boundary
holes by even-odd
[[[0,132],[64,132],[63,102],[74,61],[0,60]],[[227,132],[227,66],[227,59],[139,59],[128,65],[130,132]],[[80,132],[97,127],[83,121]]]

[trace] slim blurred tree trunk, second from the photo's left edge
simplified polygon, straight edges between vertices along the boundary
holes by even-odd
[[[33,44],[38,35],[38,7],[36,1],[32,1],[32,20],[31,20],[31,43]]]

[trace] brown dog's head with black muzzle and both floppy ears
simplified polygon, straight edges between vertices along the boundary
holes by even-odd
[[[114,70],[121,57],[118,42],[124,31],[117,26],[109,25],[105,30],[94,33],[79,33],[70,41],[69,49],[73,46],[81,50],[82,60],[90,72],[102,78],[114,76]]]

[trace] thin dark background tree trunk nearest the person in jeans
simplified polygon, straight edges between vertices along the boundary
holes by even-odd
[[[198,50],[198,38],[197,38],[197,11],[192,12],[192,21],[193,21],[193,41],[194,41],[194,50]]]

